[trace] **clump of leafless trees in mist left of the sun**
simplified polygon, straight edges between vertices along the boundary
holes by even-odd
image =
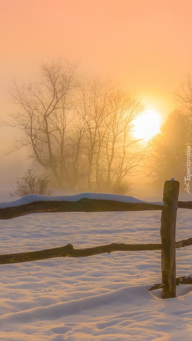
[[[42,64],[38,82],[14,81],[10,101],[9,125],[20,130],[12,151],[28,147],[57,186],[111,191],[138,170],[145,151],[133,136],[143,112],[135,91],[57,60]]]

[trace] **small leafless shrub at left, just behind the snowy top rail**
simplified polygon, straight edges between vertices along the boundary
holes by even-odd
[[[22,178],[17,178],[17,187],[11,196],[24,196],[27,194],[51,195],[53,191],[49,188],[49,176],[37,175],[33,169],[27,169]]]

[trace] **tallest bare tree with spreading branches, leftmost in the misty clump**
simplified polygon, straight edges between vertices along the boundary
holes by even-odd
[[[78,63],[64,64],[59,59],[43,63],[38,83],[19,86],[14,80],[9,92],[11,103],[17,108],[9,125],[22,133],[11,151],[30,147],[31,157],[51,169],[58,186],[68,176],[65,135],[77,66]]]

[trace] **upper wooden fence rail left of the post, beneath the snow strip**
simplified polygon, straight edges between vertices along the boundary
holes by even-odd
[[[79,201],[35,201],[30,204],[0,208],[0,219],[12,219],[30,213],[149,211],[162,210],[162,207],[164,206],[148,203],[123,203],[88,198]]]

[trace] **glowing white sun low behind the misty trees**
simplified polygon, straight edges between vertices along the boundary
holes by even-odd
[[[135,120],[133,134],[136,138],[149,140],[160,131],[160,115],[154,110],[147,110],[147,113]]]

